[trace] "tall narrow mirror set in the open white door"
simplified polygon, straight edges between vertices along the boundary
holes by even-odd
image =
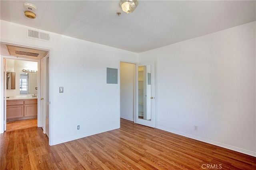
[[[151,121],[151,65],[138,66],[138,118]]]

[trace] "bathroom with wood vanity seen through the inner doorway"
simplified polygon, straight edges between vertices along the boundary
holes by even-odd
[[[4,59],[6,131],[37,127],[38,61]],[[12,74],[12,79],[10,79]],[[12,86],[10,86],[10,84]]]

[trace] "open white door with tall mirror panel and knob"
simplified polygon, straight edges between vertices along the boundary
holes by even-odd
[[[136,69],[136,122],[155,127],[154,61],[139,63]]]

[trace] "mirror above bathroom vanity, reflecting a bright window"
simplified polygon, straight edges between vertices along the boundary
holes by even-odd
[[[37,94],[37,73],[20,72],[20,94]]]

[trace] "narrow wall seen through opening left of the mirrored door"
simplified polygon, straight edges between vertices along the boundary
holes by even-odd
[[[120,63],[120,117],[134,121],[135,64]]]

